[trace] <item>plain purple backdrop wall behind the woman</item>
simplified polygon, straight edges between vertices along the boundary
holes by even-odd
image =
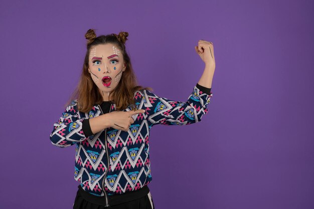
[[[2,1],[1,208],[71,208],[75,147],[49,135],[84,34],[129,33],[140,85],[186,101],[214,44],[209,112],[151,129],[156,208],[314,208],[313,1]]]

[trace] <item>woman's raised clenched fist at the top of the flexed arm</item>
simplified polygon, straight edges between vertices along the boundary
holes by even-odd
[[[200,55],[201,59],[208,66],[213,68],[216,67],[215,56],[214,56],[214,46],[212,42],[207,42],[204,40],[199,41],[199,46],[195,46],[195,51]]]

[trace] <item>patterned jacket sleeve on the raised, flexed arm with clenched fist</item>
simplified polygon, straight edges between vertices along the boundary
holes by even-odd
[[[156,124],[188,125],[200,122],[203,115],[208,112],[207,105],[213,94],[204,93],[198,87],[210,91],[209,88],[197,84],[186,102],[159,97],[148,90],[144,90],[147,120],[151,126]]]

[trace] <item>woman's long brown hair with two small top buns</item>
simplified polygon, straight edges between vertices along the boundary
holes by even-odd
[[[125,50],[124,44],[127,40],[127,36],[127,32],[120,32],[118,35],[109,34],[106,36],[101,35],[96,37],[95,31],[93,29],[89,29],[86,32],[85,38],[87,39],[87,52],[84,59],[82,74],[76,89],[72,93],[69,101],[65,106],[69,105],[77,98],[78,110],[80,112],[87,113],[91,110],[93,105],[101,104],[103,98],[98,91],[98,87],[93,82],[90,74],[88,73],[88,58],[90,49],[93,46],[111,43],[116,45],[117,48],[119,48],[122,52],[126,68],[121,76],[120,82],[114,91],[110,92],[109,98],[113,98],[112,102],[116,104],[117,110],[126,109],[129,105],[132,105],[134,109],[137,109],[134,102],[134,93],[138,90],[146,89],[152,91],[152,89],[150,87],[142,87],[137,85],[136,77],[131,65],[131,60]]]

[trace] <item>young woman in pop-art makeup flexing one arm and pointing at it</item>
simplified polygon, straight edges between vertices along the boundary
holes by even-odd
[[[206,67],[188,100],[180,102],[137,86],[127,36],[87,31],[79,84],[50,134],[58,147],[76,146],[74,178],[80,184],[73,208],[154,208],[147,186],[150,128],[193,124],[208,112],[215,70],[211,42],[200,40],[195,47]]]

